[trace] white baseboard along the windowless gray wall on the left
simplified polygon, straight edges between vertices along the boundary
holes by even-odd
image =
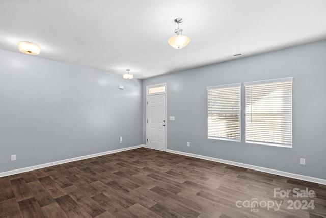
[[[131,147],[127,147],[127,148],[116,149],[116,150],[106,151],[106,152],[101,152],[101,153],[96,153],[96,154],[85,155],[85,156],[81,156],[81,157],[74,157],[74,158],[59,160],[59,161],[50,162],[50,163],[44,163],[44,164],[35,165],[35,166],[29,166],[29,167],[20,168],[20,169],[14,169],[12,171],[1,172],[0,177],[10,176],[13,174],[19,174],[19,173],[24,173],[24,172],[28,172],[28,171],[34,171],[35,169],[45,168],[45,167],[49,167],[49,166],[55,166],[55,165],[69,163],[69,162],[73,162],[73,161],[77,161],[77,160],[84,160],[84,159],[98,157],[98,156],[107,155],[107,154],[113,154],[113,153],[117,153],[117,152],[131,150],[131,149],[138,149],[138,148],[142,148],[142,147],[146,147],[145,144],[140,144],[139,146],[131,146]]]

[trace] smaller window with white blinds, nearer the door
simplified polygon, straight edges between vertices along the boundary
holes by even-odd
[[[241,141],[241,83],[207,87],[208,138]]]

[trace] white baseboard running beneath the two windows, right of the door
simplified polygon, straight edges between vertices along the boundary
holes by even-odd
[[[293,173],[288,173],[288,172],[284,172],[284,171],[277,171],[276,169],[269,169],[269,168],[265,168],[265,167],[254,166],[254,165],[249,165],[249,164],[245,164],[245,163],[238,163],[238,162],[234,162],[234,161],[223,160],[223,159],[218,159],[218,158],[214,158],[214,157],[207,157],[207,156],[197,155],[197,154],[192,154],[192,153],[179,152],[179,151],[174,151],[174,150],[170,150],[170,149],[167,149],[167,152],[185,155],[185,156],[189,156],[189,157],[196,157],[196,158],[200,158],[200,159],[204,159],[204,160],[211,160],[214,162],[225,163],[225,164],[229,164],[229,165],[233,165],[233,166],[254,169],[255,171],[261,171],[261,172],[265,172],[265,173],[270,173],[270,174],[275,174],[275,175],[279,175],[279,176],[285,176],[285,177],[290,177],[293,179],[300,179],[300,180],[304,180],[304,181],[308,181],[308,182],[314,182],[314,183],[326,185],[326,179],[304,176],[304,175],[300,175],[300,174],[293,174]]]

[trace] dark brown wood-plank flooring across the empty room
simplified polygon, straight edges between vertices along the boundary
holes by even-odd
[[[326,217],[326,186],[140,148],[2,177],[0,217]]]

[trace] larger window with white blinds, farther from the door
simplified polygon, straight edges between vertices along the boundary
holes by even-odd
[[[244,83],[246,142],[292,147],[293,77]]]

